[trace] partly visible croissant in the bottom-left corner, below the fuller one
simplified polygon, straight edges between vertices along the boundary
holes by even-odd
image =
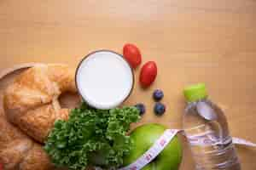
[[[54,169],[42,145],[21,133],[4,116],[0,118],[0,128],[0,162],[4,170]]]

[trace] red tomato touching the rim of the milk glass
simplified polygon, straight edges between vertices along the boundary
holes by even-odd
[[[131,43],[126,43],[123,48],[123,55],[132,68],[142,63],[142,55],[140,50]]]

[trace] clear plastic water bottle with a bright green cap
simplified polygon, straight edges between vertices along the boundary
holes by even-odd
[[[197,170],[240,170],[224,112],[207,99],[205,84],[184,88],[188,101],[183,129],[189,140]]]

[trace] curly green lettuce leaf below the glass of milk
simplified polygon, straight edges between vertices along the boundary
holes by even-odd
[[[83,103],[71,111],[68,121],[55,122],[44,150],[57,167],[119,167],[131,150],[126,133],[139,117],[136,107],[102,111]]]

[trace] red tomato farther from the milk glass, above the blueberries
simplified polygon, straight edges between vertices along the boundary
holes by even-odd
[[[148,61],[143,65],[143,68],[141,70],[140,74],[140,82],[143,88],[147,88],[152,82],[154,82],[154,79],[157,75],[157,67],[154,61]]]

